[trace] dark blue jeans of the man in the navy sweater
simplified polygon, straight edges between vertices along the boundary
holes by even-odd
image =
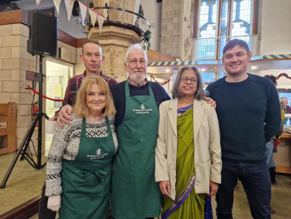
[[[252,217],[271,219],[271,181],[265,160],[222,159],[221,177],[215,197],[217,219],[232,219],[233,192],[238,179],[245,189]]]

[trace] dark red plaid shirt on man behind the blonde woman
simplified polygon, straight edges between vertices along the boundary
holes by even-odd
[[[73,78],[70,78],[68,81],[68,85],[65,91],[65,96],[62,102],[62,106],[59,110],[65,105],[73,106],[76,103],[76,95],[78,90],[80,89],[81,83],[83,82],[84,77],[86,77],[86,71],[82,75],[76,75]],[[117,84],[117,80],[110,78],[104,75],[101,71],[101,77],[107,82],[108,86],[112,86]],[[59,110],[55,112],[55,116],[58,116]]]

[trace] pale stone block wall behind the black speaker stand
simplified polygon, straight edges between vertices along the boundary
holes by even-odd
[[[16,148],[19,148],[31,124],[32,91],[26,90],[25,87],[26,85],[31,86],[32,82],[27,81],[25,75],[26,71],[36,71],[36,56],[32,56],[27,52],[28,36],[29,29],[24,24],[0,25],[0,103],[16,102]],[[76,48],[58,40],[59,47],[70,50],[70,61],[67,62],[75,64]],[[39,63],[37,63],[37,72],[39,72]],[[45,73],[46,58],[43,59],[43,74]],[[39,91],[38,83],[36,90]],[[44,78],[43,82],[43,94],[45,95],[45,93],[46,78]],[[39,97],[36,95],[36,101],[38,99]],[[45,104],[46,101],[43,99],[43,109],[45,109]],[[44,119],[42,130],[44,139]],[[37,131],[34,132],[32,137],[35,145],[37,145],[36,137]],[[45,141],[42,143],[42,151],[44,151]]]

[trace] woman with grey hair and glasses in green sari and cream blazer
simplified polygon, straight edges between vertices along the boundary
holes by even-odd
[[[160,105],[155,180],[162,219],[212,218],[211,197],[221,183],[221,148],[215,109],[195,66],[178,71],[173,99]]]

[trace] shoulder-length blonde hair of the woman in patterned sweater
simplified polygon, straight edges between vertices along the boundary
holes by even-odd
[[[102,110],[101,116],[111,116],[116,113],[113,97],[105,80],[100,76],[87,76],[84,78],[80,89],[77,93],[76,103],[73,106],[76,116],[86,117],[89,115],[89,108],[86,104],[86,94],[90,92],[90,88],[96,84],[100,92],[106,94],[106,105]]]

